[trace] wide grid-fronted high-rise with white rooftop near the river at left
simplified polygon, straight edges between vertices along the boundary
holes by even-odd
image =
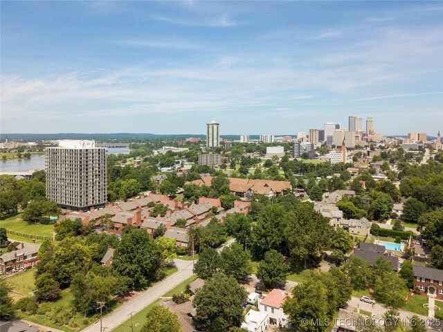
[[[93,140],[62,140],[46,148],[46,197],[67,210],[107,202],[107,154]]]

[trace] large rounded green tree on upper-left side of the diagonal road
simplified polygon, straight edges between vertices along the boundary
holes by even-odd
[[[161,263],[161,250],[145,230],[133,229],[118,243],[112,268],[129,277],[135,287],[146,286],[154,279]]]

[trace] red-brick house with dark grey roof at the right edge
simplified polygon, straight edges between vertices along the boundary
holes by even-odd
[[[423,265],[414,265],[414,288],[423,295],[435,295],[443,300],[443,270],[427,268]]]

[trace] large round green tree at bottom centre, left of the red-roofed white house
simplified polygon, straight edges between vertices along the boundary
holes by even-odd
[[[192,302],[200,326],[213,332],[224,332],[230,326],[240,326],[243,320],[242,303],[246,295],[244,288],[233,277],[216,273],[199,289]]]

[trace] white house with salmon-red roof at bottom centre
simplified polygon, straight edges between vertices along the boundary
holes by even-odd
[[[258,309],[269,315],[269,322],[279,329],[288,325],[288,316],[283,311],[283,303],[290,296],[287,291],[274,288],[264,299],[259,299]]]

